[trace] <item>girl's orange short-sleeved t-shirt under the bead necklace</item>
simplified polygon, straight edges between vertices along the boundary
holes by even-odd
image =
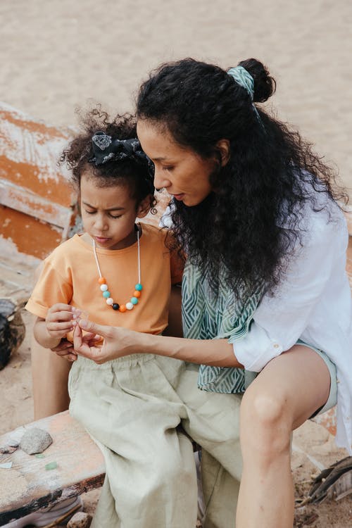
[[[141,224],[141,284],[139,302],[120,313],[106,304],[98,282],[99,272],[93,247],[80,235],[63,242],[44,260],[44,268],[25,308],[45,318],[55,303],[66,303],[84,310],[89,320],[100,325],[125,327],[160,334],[168,325],[171,284],[182,279],[182,263],[177,252],[165,246],[165,230]],[[138,281],[137,242],[125,249],[96,249],[101,275],[115,303],[125,304]]]

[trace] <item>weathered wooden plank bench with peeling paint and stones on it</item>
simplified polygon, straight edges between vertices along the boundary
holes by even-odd
[[[0,454],[0,465],[12,462],[11,469],[0,467],[0,526],[103,484],[103,455],[68,411],[0,436],[0,448],[20,441],[31,427],[49,432],[53,443],[42,453],[43,458],[27,455],[20,448]],[[46,470],[53,462],[56,469]]]

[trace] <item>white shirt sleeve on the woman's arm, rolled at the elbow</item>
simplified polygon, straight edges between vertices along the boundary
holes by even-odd
[[[273,296],[263,296],[248,334],[233,344],[234,355],[246,370],[260,372],[272,358],[289,350],[320,301],[341,240],[337,234],[341,223],[325,219],[315,224],[303,232],[301,243],[296,241],[282,283]]]

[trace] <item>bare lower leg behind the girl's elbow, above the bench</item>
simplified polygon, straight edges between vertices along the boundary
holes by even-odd
[[[34,420],[68,409],[68,373],[71,363],[43,348],[32,336]]]

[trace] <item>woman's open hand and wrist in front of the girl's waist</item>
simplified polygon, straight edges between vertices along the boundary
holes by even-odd
[[[89,332],[91,336],[103,338],[101,346],[97,346],[94,339],[85,339],[82,335],[82,328]],[[96,323],[88,320],[79,320],[73,332],[73,348],[74,353],[84,358],[92,359],[99,365],[111,361],[113,359],[121,358],[122,356],[129,356],[130,354],[142,352],[144,350],[144,339],[147,334],[134,332],[121,327],[109,327],[103,325],[96,325]]]

